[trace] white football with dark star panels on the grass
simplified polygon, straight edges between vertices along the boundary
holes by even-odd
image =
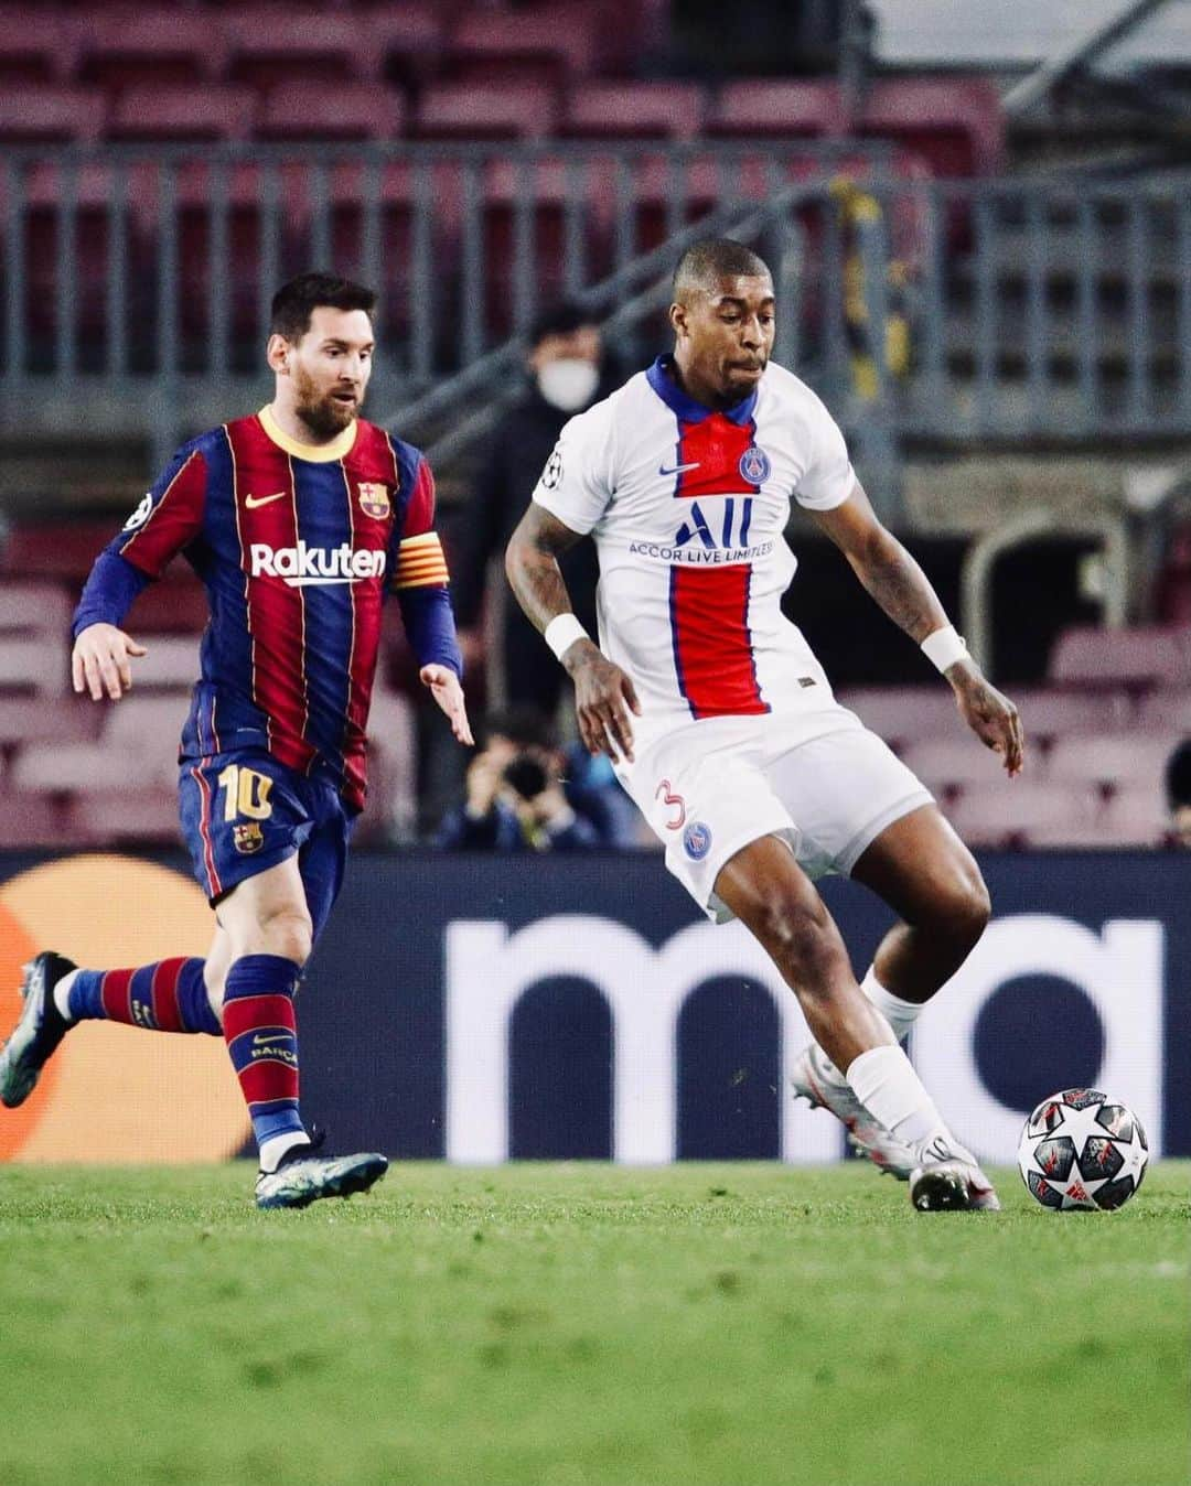
[[[1063,1089],[1026,1120],[1017,1167],[1030,1195],[1056,1213],[1123,1207],[1149,1161],[1142,1122],[1099,1089]]]

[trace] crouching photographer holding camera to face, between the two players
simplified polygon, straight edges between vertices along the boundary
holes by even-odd
[[[555,744],[534,707],[494,713],[467,770],[467,798],[448,811],[439,846],[485,851],[575,851],[632,846],[633,805],[607,758]]]

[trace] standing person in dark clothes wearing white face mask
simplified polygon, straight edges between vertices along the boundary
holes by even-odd
[[[452,597],[465,661],[482,654],[480,617],[489,563],[504,551],[525,511],[525,492],[558,441],[562,425],[608,391],[599,328],[572,303],[534,321],[526,355],[529,383],[480,453],[479,474],[452,562]],[[567,554],[567,587],[575,612],[595,623],[598,566],[592,542]],[[553,718],[562,684],[553,655],[516,603],[504,606],[500,633],[504,697]]]

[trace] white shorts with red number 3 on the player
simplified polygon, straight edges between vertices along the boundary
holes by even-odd
[[[776,835],[810,877],[849,875],[901,816],[934,802],[926,786],[846,707],[815,718],[706,718],[654,743],[617,774],[666,849],[666,866],[717,923],[720,869]]]

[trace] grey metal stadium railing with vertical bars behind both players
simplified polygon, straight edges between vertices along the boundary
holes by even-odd
[[[1191,172],[941,181],[879,141],[773,138],[9,149],[0,418],[158,459],[265,391],[269,296],[312,265],[381,288],[373,412],[489,358],[455,383],[471,412],[544,300],[794,187],[787,349],[828,394],[941,443],[1191,431]]]

